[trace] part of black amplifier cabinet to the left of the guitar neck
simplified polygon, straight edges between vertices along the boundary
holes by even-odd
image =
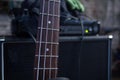
[[[0,80],[33,80],[34,41],[16,37],[6,37],[4,40],[0,46],[2,48]]]

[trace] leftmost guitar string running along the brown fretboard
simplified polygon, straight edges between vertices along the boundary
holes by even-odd
[[[43,8],[41,8],[41,6],[40,6],[40,8],[39,9],[42,9],[42,13],[44,12],[44,7],[45,7],[45,0],[42,0],[43,1]],[[41,17],[40,17],[41,16]],[[42,28],[43,27],[43,15],[41,14],[41,15],[39,15],[39,21],[38,21],[38,25]],[[41,18],[41,20],[40,20],[40,18]],[[41,24],[41,25],[40,25]],[[40,33],[38,34],[38,35],[40,35],[39,36],[39,41],[41,42],[42,41],[42,33],[43,33],[43,30],[42,29],[38,29],[38,30],[40,30]],[[41,47],[41,43],[39,43],[39,56],[38,56],[38,68],[40,67],[40,61],[41,61],[41,58],[40,58],[40,55],[41,55],[41,49],[42,49],[42,47]],[[39,80],[39,74],[40,74],[40,70],[39,69],[37,69],[37,80]]]

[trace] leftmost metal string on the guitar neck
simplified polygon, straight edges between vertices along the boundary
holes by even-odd
[[[45,0],[43,0],[43,8],[40,8],[40,9],[42,9],[42,13],[44,12],[44,8],[45,8]],[[39,23],[40,23],[40,16],[39,16],[39,21],[38,21],[38,26],[41,26],[41,27],[43,27],[43,15],[42,15],[42,20],[41,20],[41,25],[39,25]],[[38,34],[38,35],[40,35],[39,36],[39,41],[41,42],[42,41],[42,29],[41,29],[41,31],[40,31],[40,34]],[[41,54],[41,43],[39,43],[39,57],[38,57],[38,68],[39,68],[39,66],[40,66],[40,54]],[[37,70],[37,80],[39,80],[39,69]]]

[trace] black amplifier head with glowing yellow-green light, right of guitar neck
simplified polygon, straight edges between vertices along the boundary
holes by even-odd
[[[61,36],[96,35],[100,32],[100,23],[97,21],[69,21],[60,26]]]

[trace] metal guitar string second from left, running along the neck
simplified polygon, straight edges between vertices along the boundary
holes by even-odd
[[[47,3],[47,1],[45,1],[45,2]],[[50,6],[50,0],[48,0],[48,5],[47,5],[47,9],[48,9],[48,10],[47,10],[47,14],[49,14],[49,6]],[[47,25],[45,26],[45,27],[46,27],[46,34],[45,34],[45,41],[46,41],[46,42],[48,41],[48,24],[49,24],[48,21],[49,21],[49,16],[47,15],[47,21],[46,21],[46,24],[47,24]],[[47,61],[46,55],[47,55],[47,51],[49,50],[49,49],[47,50],[47,45],[48,45],[48,44],[45,43],[45,50],[44,50],[44,55],[45,55],[45,56],[44,56],[44,64],[43,64],[43,66],[44,66],[44,67],[43,67],[43,68],[44,68],[44,69],[43,69],[43,80],[46,80],[46,78],[47,78],[47,77],[46,77],[46,70],[45,70],[45,68],[47,67],[47,66],[46,66],[46,61]]]

